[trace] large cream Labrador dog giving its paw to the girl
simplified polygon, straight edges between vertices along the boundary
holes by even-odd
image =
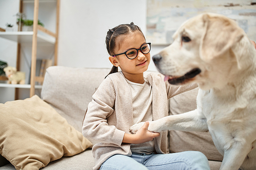
[[[212,13],[187,20],[173,38],[153,61],[170,84],[198,83],[197,109],[150,122],[148,130],[209,131],[224,156],[220,169],[256,169],[256,50],[249,38]]]

